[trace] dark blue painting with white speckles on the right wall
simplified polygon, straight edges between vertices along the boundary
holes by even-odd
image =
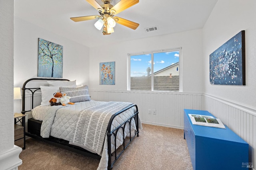
[[[210,83],[245,85],[245,31],[210,54]]]

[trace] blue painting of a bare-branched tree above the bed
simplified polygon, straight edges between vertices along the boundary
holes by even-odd
[[[62,78],[63,46],[38,38],[38,77]]]

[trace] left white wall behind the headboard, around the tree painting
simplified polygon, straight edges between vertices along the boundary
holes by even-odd
[[[70,41],[49,30],[14,18],[14,86],[21,87],[27,79],[37,77],[38,38],[63,46],[63,78],[77,84],[89,82],[89,48]]]

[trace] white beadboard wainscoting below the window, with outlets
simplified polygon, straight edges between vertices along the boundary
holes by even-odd
[[[143,123],[183,129],[183,109],[201,109],[202,94],[142,91],[90,90],[92,100],[121,101],[137,104]],[[151,110],[151,114],[149,114]],[[153,114],[156,110],[156,114]]]

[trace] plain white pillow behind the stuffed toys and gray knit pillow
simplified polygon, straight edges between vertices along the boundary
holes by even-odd
[[[65,87],[76,87],[76,85],[65,86]],[[59,86],[40,86],[42,93],[42,102],[41,105],[50,105],[49,100],[53,98],[53,94],[60,92]]]

